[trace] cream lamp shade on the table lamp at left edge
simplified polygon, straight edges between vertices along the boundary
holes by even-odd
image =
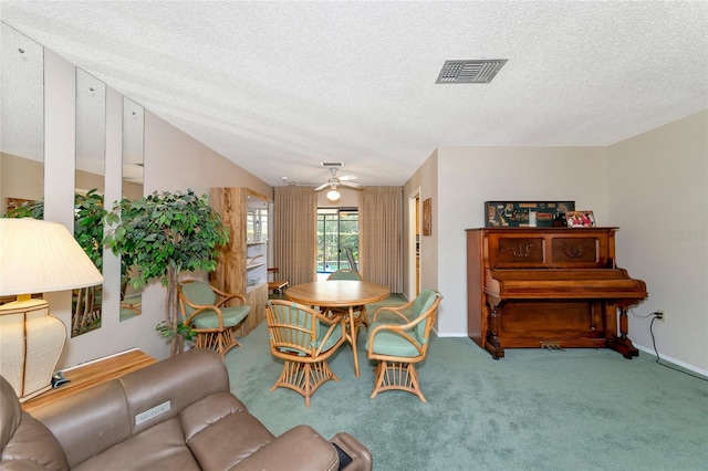
[[[103,275],[63,224],[0,218],[0,294],[65,291],[103,283]]]

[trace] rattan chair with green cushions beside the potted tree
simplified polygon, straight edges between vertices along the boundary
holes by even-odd
[[[196,280],[179,283],[177,293],[183,323],[197,333],[197,348],[217,350],[223,359],[232,347],[241,345],[236,339],[236,327],[251,312],[246,296],[226,293]],[[227,306],[230,301],[237,301],[239,305]]]

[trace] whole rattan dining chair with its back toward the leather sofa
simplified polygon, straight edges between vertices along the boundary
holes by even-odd
[[[278,381],[270,388],[290,388],[305,398],[324,383],[339,381],[327,358],[344,343],[343,320],[332,320],[302,304],[285,300],[270,300],[266,320],[271,353],[285,360]]]

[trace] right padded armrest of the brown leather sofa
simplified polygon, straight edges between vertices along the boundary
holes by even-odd
[[[231,470],[289,471],[337,470],[340,460],[332,443],[308,426],[298,426],[260,448]]]

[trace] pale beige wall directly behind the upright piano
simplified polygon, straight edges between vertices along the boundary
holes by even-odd
[[[488,200],[574,200],[607,224],[607,151],[592,147],[441,147],[437,231],[441,336],[467,335],[465,229],[485,224]]]

